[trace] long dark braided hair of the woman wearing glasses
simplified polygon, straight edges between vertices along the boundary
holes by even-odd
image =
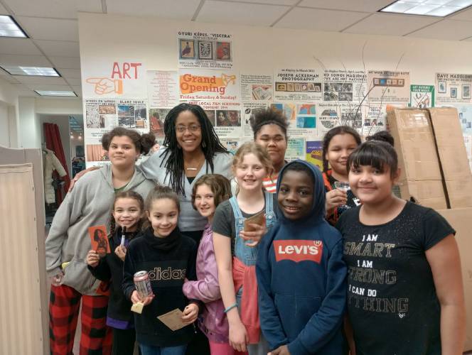
[[[165,138],[163,146],[166,146],[166,149],[161,153],[161,157],[163,158],[161,166],[165,161],[164,167],[166,168],[166,175],[170,176],[169,182],[171,183],[172,190],[178,195],[185,196],[186,193],[183,189],[183,178],[185,176],[183,169],[183,153],[181,147],[178,146],[176,135],[177,117],[183,111],[191,111],[198,119],[202,133],[200,148],[203,151],[203,155],[205,155],[207,164],[210,165],[212,173],[214,168],[213,157],[215,153],[228,153],[228,151],[218,139],[208,116],[200,106],[183,103],[178,104],[168,112],[166,120],[164,121]]]

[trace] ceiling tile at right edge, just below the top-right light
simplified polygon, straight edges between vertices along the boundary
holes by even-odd
[[[437,40],[462,40],[472,35],[469,21],[443,20],[408,35],[408,37],[434,38]]]

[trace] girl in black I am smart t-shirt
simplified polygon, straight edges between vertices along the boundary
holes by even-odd
[[[392,195],[399,178],[388,143],[348,159],[363,201],[337,224],[348,264],[347,329],[357,355],[462,354],[465,306],[454,229],[433,209]]]

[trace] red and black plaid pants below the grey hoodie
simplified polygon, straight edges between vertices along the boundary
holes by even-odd
[[[49,344],[51,355],[73,354],[75,329],[82,299],[80,355],[112,352],[112,331],[107,327],[107,296],[86,296],[66,285],[51,286]]]

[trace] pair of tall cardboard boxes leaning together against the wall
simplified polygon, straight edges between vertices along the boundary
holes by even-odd
[[[472,207],[472,175],[457,110],[391,109],[402,198],[434,209]]]

